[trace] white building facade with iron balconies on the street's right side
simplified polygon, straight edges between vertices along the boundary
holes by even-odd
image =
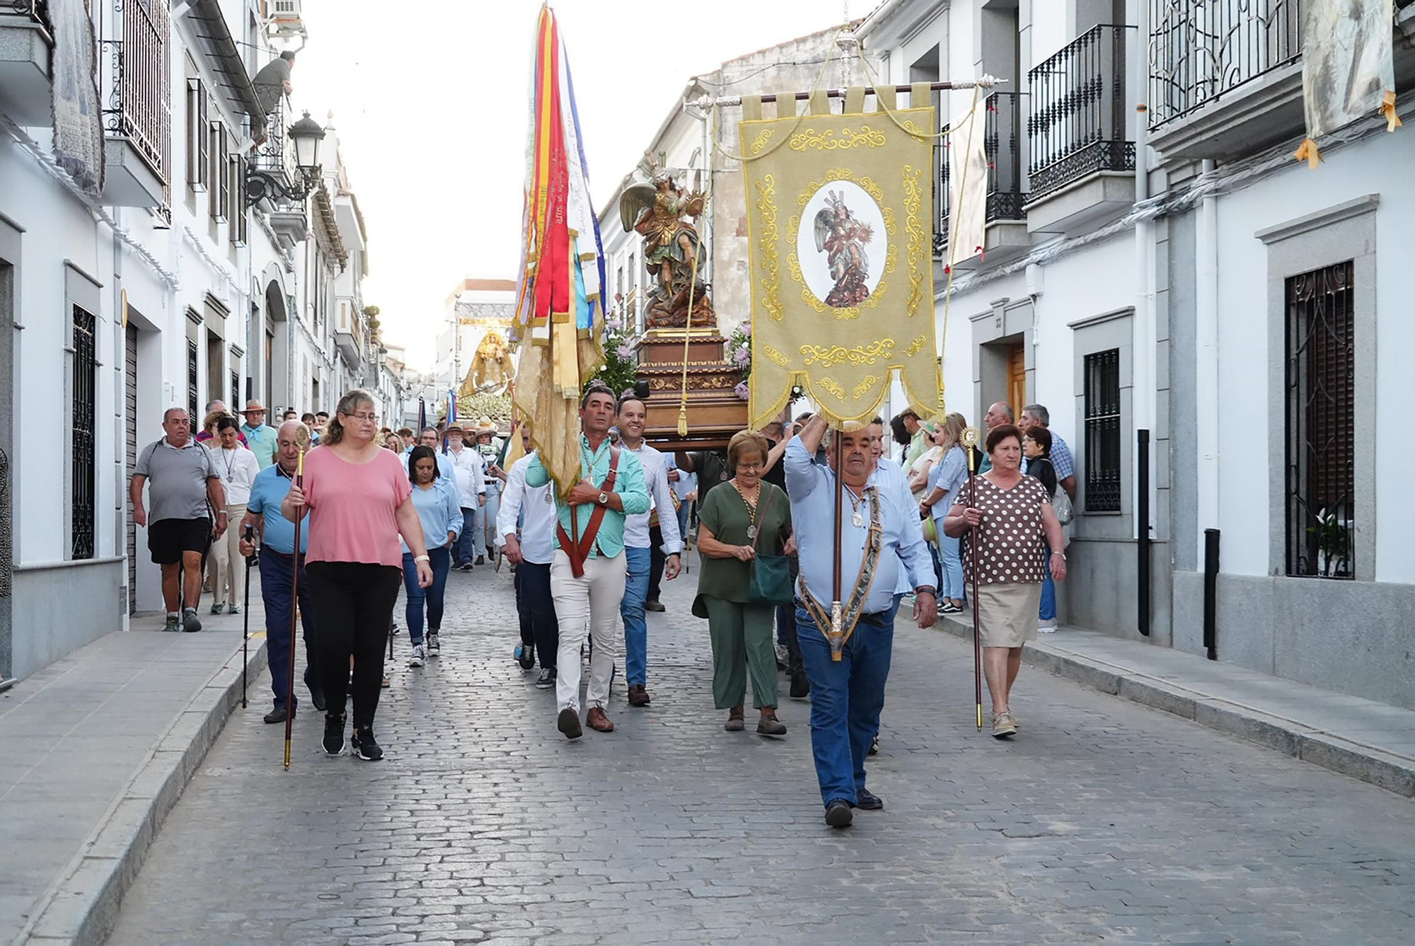
[[[1412,146],[1371,116],[1292,159],[1299,6],[890,0],[857,35],[893,82],[1006,79],[986,249],[954,255],[947,313],[935,200],[935,314],[948,409],[1040,402],[1075,455],[1061,617],[1409,708],[1415,448],[1375,431],[1415,353]],[[971,102],[945,93],[941,125]]]

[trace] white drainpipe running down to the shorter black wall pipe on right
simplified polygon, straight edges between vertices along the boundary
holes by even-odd
[[[1214,161],[1204,160],[1204,177],[1214,174]],[[1199,440],[1199,535],[1197,555],[1204,561],[1204,530],[1218,528],[1218,198],[1204,197],[1199,205],[1194,238],[1194,402]]]

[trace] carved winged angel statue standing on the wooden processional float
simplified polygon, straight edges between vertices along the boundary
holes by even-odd
[[[631,184],[620,197],[624,231],[634,231],[644,238],[644,263],[648,275],[655,278],[644,297],[648,327],[686,326],[689,295],[692,326],[716,326],[717,317],[708,297],[709,287],[700,278],[706,256],[692,222],[703,214],[706,198],[700,190],[678,187],[666,170],[651,170],[651,184]]]

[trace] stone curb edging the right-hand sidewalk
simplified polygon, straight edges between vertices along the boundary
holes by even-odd
[[[955,637],[972,640],[972,625],[954,616],[940,615],[935,627]],[[1228,700],[1208,697],[1139,671],[1128,671],[1124,667],[1067,653],[1041,642],[1029,644],[1022,651],[1022,660],[1112,697],[1163,710],[1332,772],[1370,782],[1405,797],[1415,797],[1415,762],[1404,756]]]

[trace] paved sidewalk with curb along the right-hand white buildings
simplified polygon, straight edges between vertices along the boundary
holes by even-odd
[[[941,619],[937,627],[972,640],[971,613]],[[1415,797],[1415,711],[1080,627],[1040,634],[1023,660]],[[985,714],[988,707],[983,684]]]

